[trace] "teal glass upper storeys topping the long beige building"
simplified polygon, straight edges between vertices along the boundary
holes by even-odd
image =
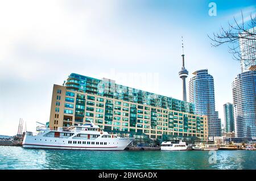
[[[115,81],[110,79],[96,79],[72,73],[68,76],[67,81],[64,82],[64,85],[67,87],[68,90],[81,91],[88,94],[97,94],[101,96],[106,96],[108,98],[166,108],[174,111],[193,114],[195,113],[195,106],[193,103],[188,103],[167,96],[118,85],[115,83]],[[109,117],[109,119],[112,119],[113,103],[108,103],[108,105],[106,103],[106,108],[108,108],[108,113],[105,113],[105,116]],[[131,111],[135,112],[135,110]],[[135,115],[133,116],[135,117]],[[131,122],[136,122],[133,116],[130,116],[130,120]],[[152,121],[152,124],[154,124],[154,120]]]

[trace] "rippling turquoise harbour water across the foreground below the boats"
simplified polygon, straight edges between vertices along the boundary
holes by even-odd
[[[256,151],[87,151],[0,146],[0,169],[256,169]]]

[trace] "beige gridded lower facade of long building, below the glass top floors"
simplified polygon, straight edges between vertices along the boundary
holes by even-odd
[[[135,111],[134,111],[135,110]],[[53,85],[49,127],[94,124],[106,131],[208,138],[207,116],[149,106]]]

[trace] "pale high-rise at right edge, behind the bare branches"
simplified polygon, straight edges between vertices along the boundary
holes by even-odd
[[[250,28],[247,32],[243,32],[240,36],[246,36],[246,39],[240,39],[240,52],[241,52],[241,71],[248,71],[253,65],[256,65],[256,27]]]

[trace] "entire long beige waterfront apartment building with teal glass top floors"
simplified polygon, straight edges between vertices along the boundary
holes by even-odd
[[[88,121],[108,132],[142,133],[153,139],[208,138],[207,116],[196,115],[192,103],[72,73],[64,86],[53,85],[49,127]]]

